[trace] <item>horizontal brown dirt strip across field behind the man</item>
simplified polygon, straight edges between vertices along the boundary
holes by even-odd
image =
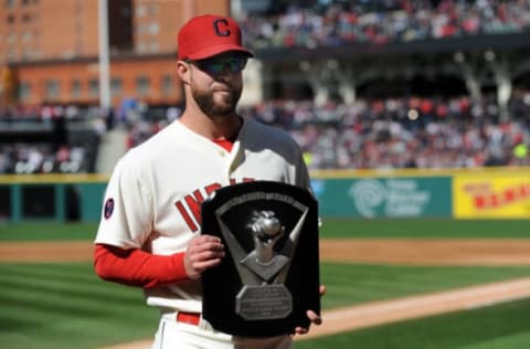
[[[2,242],[0,262],[92,261],[92,242]],[[325,262],[420,265],[530,265],[523,239],[325,239]]]

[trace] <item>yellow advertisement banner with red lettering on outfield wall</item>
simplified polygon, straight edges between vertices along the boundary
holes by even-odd
[[[455,218],[530,219],[530,171],[457,173],[453,200]]]

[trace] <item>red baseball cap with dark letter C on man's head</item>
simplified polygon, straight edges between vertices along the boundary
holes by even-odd
[[[180,29],[178,45],[179,60],[203,60],[227,51],[254,56],[242,45],[240,25],[223,15],[192,18]]]

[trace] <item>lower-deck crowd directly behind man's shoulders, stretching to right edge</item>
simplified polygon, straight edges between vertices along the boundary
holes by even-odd
[[[311,169],[530,166],[530,92],[513,95],[506,119],[495,98],[467,96],[275,101],[240,113],[290,133]],[[132,125],[129,147],[169,121]]]

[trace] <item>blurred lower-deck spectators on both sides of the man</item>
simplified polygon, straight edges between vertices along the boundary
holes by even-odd
[[[468,96],[359,98],[353,104],[324,105],[279,99],[240,109],[245,117],[292,133],[311,169],[530,166],[530,91],[515,89],[508,112],[509,119],[501,119],[496,99],[488,96],[478,103]],[[107,131],[97,107],[68,112],[51,106],[41,113],[18,110],[10,118],[49,123],[42,115],[57,113],[68,121],[84,119],[98,135]],[[135,109],[135,119],[125,124],[128,147],[145,141],[180,113]],[[80,145],[64,142],[54,149],[51,142],[4,142],[0,173],[86,172],[89,158]]]

